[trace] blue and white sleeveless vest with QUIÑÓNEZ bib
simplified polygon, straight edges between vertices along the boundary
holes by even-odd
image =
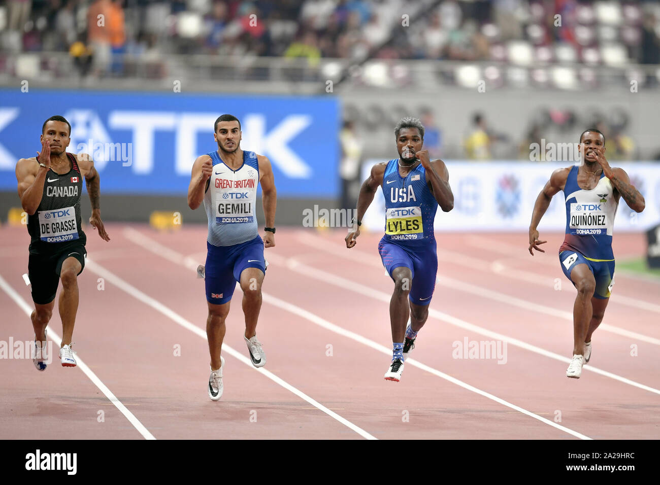
[[[591,190],[578,185],[579,167],[573,166],[566,178],[566,237],[559,251],[578,251],[591,261],[612,261],[612,229],[618,202],[610,179],[601,179]]]

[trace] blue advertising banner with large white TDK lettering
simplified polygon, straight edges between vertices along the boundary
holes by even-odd
[[[71,123],[68,152],[92,156],[102,193],[182,195],[197,156],[217,150],[213,123],[241,121],[241,148],[271,160],[280,197],[339,193],[339,102],[327,97],[0,90],[0,190],[41,150],[48,117]]]

